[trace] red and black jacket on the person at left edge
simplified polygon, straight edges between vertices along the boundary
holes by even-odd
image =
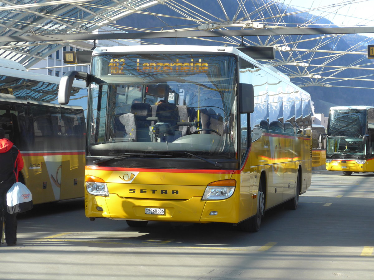
[[[0,139],[0,188],[9,189],[18,181],[24,162],[18,148],[6,138]]]

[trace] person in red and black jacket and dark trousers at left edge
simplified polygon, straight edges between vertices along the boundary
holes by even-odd
[[[24,162],[18,148],[7,138],[5,131],[0,128],[0,211],[1,235],[5,220],[5,240],[8,246],[17,243],[17,214],[9,214],[7,211],[6,193],[14,183],[18,181],[18,172],[22,170]]]

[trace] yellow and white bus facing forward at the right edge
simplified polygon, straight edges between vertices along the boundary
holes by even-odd
[[[374,107],[331,107],[327,126],[326,169],[374,172]]]

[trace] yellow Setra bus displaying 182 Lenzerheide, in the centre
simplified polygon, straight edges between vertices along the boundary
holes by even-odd
[[[311,181],[310,96],[234,47],[96,48],[85,211],[91,220],[232,223],[296,209]]]

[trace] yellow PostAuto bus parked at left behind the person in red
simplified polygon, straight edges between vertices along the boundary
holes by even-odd
[[[21,151],[24,168],[19,180],[30,189],[33,203],[83,197],[82,106],[51,103],[57,99],[60,78],[27,72],[11,60],[0,63],[0,127]],[[76,94],[87,94],[82,81],[71,87],[71,95]]]

